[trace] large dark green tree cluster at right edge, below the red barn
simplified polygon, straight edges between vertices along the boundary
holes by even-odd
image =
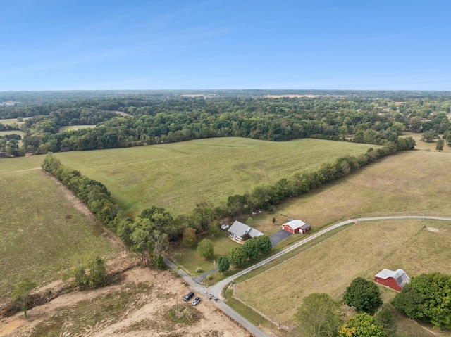
[[[451,329],[451,276],[432,273],[412,277],[395,296],[393,305],[410,318]]]

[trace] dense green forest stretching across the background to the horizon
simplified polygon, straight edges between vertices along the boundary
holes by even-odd
[[[161,144],[220,136],[321,138],[385,145],[405,130],[451,145],[451,92],[49,91],[0,93],[4,156]],[[283,91],[287,94],[287,91]],[[272,96],[268,96],[272,95]],[[1,101],[4,100],[4,101]],[[95,125],[66,130],[70,125]],[[17,130],[23,132],[13,134]],[[22,139],[23,138],[23,139]],[[21,141],[21,144],[20,144]],[[403,144],[398,146],[404,149]]]

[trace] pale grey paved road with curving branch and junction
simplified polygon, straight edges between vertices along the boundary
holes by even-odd
[[[271,257],[268,257],[266,260],[263,260],[255,265],[252,265],[251,267],[243,269],[241,272],[237,272],[237,274],[230,276],[227,279],[223,279],[222,281],[219,281],[217,284],[215,284],[214,286],[211,286],[210,288],[206,288],[206,287],[202,286],[201,284],[196,283],[194,281],[194,279],[192,279],[192,277],[189,276],[187,273],[185,273],[182,269],[178,269],[178,274],[180,274],[180,276],[182,276],[183,279],[185,279],[185,281],[187,281],[187,283],[190,284],[195,289],[195,291],[197,291],[198,293],[204,293],[209,298],[211,297],[211,300],[213,300],[214,303],[218,307],[220,307],[221,310],[223,310],[223,312],[225,312],[226,314],[228,314],[228,316],[235,319],[236,322],[238,322],[242,326],[244,326],[245,329],[247,329],[247,331],[249,331],[250,333],[254,334],[254,336],[268,337],[268,335],[266,335],[266,333],[264,333],[263,331],[258,329],[257,326],[254,326],[254,324],[252,324],[247,319],[242,317],[240,314],[235,312],[235,310],[233,310],[231,307],[226,305],[226,303],[223,303],[223,298],[221,295],[222,290],[233,279],[235,279],[239,276],[242,276],[244,274],[247,274],[248,272],[250,272],[254,269],[257,269],[258,267],[261,267],[262,265],[265,265],[268,262],[276,260],[276,258],[278,258],[282,255],[285,255],[286,253],[289,253],[290,251],[295,250],[295,249],[299,248],[300,246],[303,246],[304,244],[309,243],[310,241],[318,238],[319,236],[326,234],[329,231],[332,231],[333,229],[336,229],[338,227],[342,227],[342,226],[345,226],[347,224],[352,224],[352,223],[357,224],[359,222],[364,222],[364,221],[406,220],[406,219],[442,220],[442,221],[450,221],[451,222],[451,217],[431,217],[428,215],[424,215],[424,216],[423,215],[419,215],[419,216],[417,216],[417,215],[402,216],[401,215],[401,216],[393,216],[393,217],[359,217],[357,219],[350,219],[350,220],[338,222],[338,224],[333,224],[332,226],[327,227],[326,229],[318,231],[317,233],[307,237],[307,239],[299,241],[299,242],[295,243],[294,245],[292,245],[288,248],[285,248],[284,250],[281,250],[279,253],[272,255]],[[167,259],[165,259],[165,262],[168,265],[168,267],[175,269],[175,265],[173,264],[173,262],[171,262]]]

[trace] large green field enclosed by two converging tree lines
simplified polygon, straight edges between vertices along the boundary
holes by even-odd
[[[105,184],[131,215],[152,205],[178,215],[197,203],[226,203],[228,196],[258,184],[314,171],[342,155],[365,153],[369,147],[319,139],[216,138],[55,155],[68,167]]]

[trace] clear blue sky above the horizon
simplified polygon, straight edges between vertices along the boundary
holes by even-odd
[[[451,1],[2,0],[0,91],[451,90]]]

